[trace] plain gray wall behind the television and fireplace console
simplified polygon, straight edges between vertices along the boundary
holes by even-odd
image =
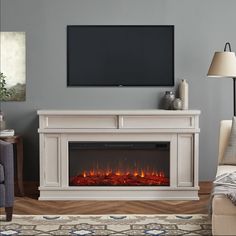
[[[1,0],[1,31],[25,31],[27,95],[6,102],[9,128],[24,136],[28,180],[38,179],[37,109],[156,109],[175,88],[67,88],[66,26],[70,24],[173,24],[175,76],[190,85],[190,108],[202,111],[200,179],[217,164],[218,127],[232,117],[232,81],[208,79],[215,50],[236,49],[234,0]]]

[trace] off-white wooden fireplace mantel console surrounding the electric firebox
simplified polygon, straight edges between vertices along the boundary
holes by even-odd
[[[197,200],[198,110],[39,110],[40,200]],[[69,186],[70,141],[170,142],[170,186]]]

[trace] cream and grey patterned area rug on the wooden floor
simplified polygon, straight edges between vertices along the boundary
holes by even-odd
[[[211,235],[208,215],[14,215],[0,235]]]

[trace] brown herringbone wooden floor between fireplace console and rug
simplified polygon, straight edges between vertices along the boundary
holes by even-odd
[[[14,214],[207,214],[211,187],[200,183],[199,201],[38,201],[36,185],[25,184],[26,196],[15,198]]]

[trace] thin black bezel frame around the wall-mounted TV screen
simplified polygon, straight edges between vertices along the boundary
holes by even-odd
[[[148,85],[129,85],[129,84],[119,84],[119,85],[105,85],[105,84],[83,84],[83,85],[70,85],[69,84],[69,29],[77,28],[77,27],[165,27],[172,28],[172,48],[173,48],[173,57],[172,57],[172,65],[173,65],[173,74],[171,78],[171,84],[164,85],[156,85],[156,84],[148,84]],[[67,25],[67,87],[173,87],[175,86],[175,26],[174,25]]]

